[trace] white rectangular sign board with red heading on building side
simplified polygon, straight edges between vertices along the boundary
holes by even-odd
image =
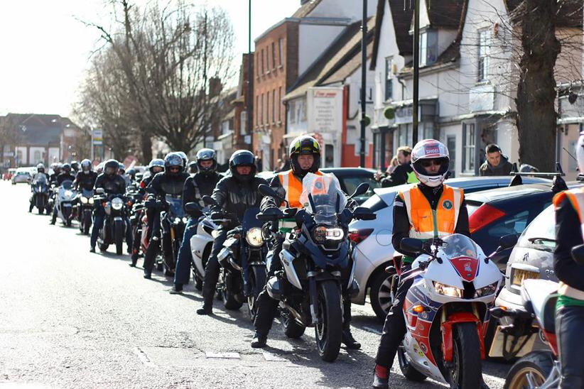
[[[308,131],[342,132],[342,87],[308,88]]]

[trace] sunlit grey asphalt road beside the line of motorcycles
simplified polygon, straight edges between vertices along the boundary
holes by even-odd
[[[312,329],[289,341],[278,323],[269,347],[252,349],[244,308],[215,302],[198,316],[192,284],[170,295],[170,278],[144,280],[129,256],[90,253],[76,224],[29,214],[29,194],[0,182],[0,387],[370,387],[382,326],[369,307],[353,306],[362,349],[342,349],[335,363],[320,360]],[[485,363],[485,383],[502,388],[508,369]],[[440,386],[407,381],[394,364],[391,388]]]

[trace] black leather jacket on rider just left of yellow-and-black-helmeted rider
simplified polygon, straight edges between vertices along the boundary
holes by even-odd
[[[217,202],[211,208],[212,212],[229,212],[237,215],[241,220],[249,207],[259,207],[261,194],[257,188],[260,184],[268,184],[260,177],[254,177],[249,182],[241,182],[233,176],[223,177],[217,182],[211,197]]]

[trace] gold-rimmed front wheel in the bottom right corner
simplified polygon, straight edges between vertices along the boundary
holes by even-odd
[[[514,363],[505,378],[504,389],[539,387],[551,375],[553,365],[550,351],[531,352]]]

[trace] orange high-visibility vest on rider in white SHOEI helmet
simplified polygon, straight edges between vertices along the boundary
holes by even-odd
[[[399,194],[406,204],[410,238],[432,239],[454,234],[464,191],[444,185],[436,210],[418,186]]]

